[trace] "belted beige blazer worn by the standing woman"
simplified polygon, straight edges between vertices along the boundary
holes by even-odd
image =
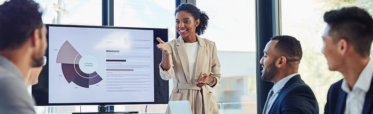
[[[219,114],[215,98],[209,87],[207,85],[197,87],[194,84],[197,81],[201,81],[201,75],[204,73],[217,79],[216,85],[212,87],[220,84],[220,62],[219,58],[217,58],[217,49],[213,41],[201,38],[197,34],[195,35],[200,44],[195,60],[194,74],[191,75],[189,72],[189,59],[186,54],[184,40],[179,37],[166,43],[171,51],[171,67],[166,71],[159,64],[160,76],[163,80],[173,78],[174,86],[170,101],[189,100],[193,114]],[[169,107],[167,107],[166,114],[170,114]]]

